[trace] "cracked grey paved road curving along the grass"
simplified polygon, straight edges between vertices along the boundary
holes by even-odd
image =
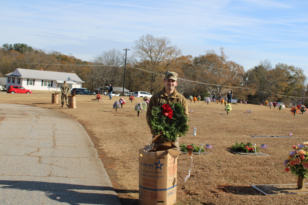
[[[0,103],[0,204],[121,204],[90,137],[51,109]]]

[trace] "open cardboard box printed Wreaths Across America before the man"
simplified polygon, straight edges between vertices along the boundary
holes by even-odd
[[[181,151],[150,152],[151,145],[139,150],[139,204],[172,205],[176,203],[177,157]]]

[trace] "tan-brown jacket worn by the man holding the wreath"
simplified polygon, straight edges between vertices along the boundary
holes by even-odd
[[[187,101],[184,96],[182,96],[180,93],[174,89],[174,92],[172,93],[172,96],[169,97],[167,93],[165,92],[165,88],[163,88],[160,92],[155,93],[149,101],[148,108],[147,108],[147,123],[148,126],[151,129],[151,133],[153,136],[156,135],[156,132],[152,130],[152,125],[151,125],[151,116],[152,116],[152,108],[155,106],[159,106],[162,102],[162,100],[165,100],[166,104],[171,104],[171,103],[181,103],[184,106],[184,114],[188,116],[188,107],[187,107]]]

